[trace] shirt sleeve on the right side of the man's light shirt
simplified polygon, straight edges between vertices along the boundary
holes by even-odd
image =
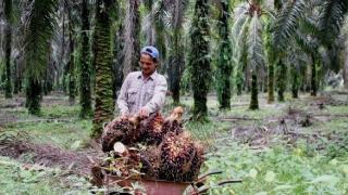
[[[144,106],[149,113],[160,110],[165,102],[165,93],[167,90],[166,80],[164,77],[159,77],[158,82],[154,86],[152,99]]]

